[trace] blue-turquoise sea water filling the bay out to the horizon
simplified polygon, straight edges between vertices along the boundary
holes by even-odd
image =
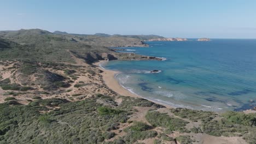
[[[110,61],[120,85],[142,97],[175,107],[241,111],[256,106],[256,40],[153,41],[126,52],[165,61]],[[123,48],[121,48],[123,49]],[[161,70],[160,73],[149,73]]]

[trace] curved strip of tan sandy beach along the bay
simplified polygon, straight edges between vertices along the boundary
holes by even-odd
[[[119,84],[118,80],[115,79],[115,76],[118,75],[121,72],[120,71],[115,71],[115,70],[108,70],[108,69],[103,68],[101,66],[101,63],[103,63],[103,62],[108,62],[108,61],[99,61],[99,62],[96,62],[96,63],[93,63],[93,64],[98,66],[98,69],[103,71],[103,73],[101,73],[101,75],[102,75],[103,81],[105,82],[107,87],[109,87],[114,92],[118,93],[119,95],[123,95],[123,96],[127,96],[127,97],[133,97],[133,98],[143,98],[143,99],[146,99],[146,98],[142,97],[141,95],[132,93],[128,89],[126,89],[123,86],[121,86]],[[159,104],[159,105],[165,106],[168,109],[176,108],[174,106],[163,104],[163,103],[159,103],[158,101],[154,101],[154,100],[151,100],[151,99],[147,99],[147,100],[151,101],[151,102],[153,102],[155,104]]]

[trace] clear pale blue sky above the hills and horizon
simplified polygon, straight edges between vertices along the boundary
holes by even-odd
[[[256,1],[0,0],[0,31],[256,38]]]

